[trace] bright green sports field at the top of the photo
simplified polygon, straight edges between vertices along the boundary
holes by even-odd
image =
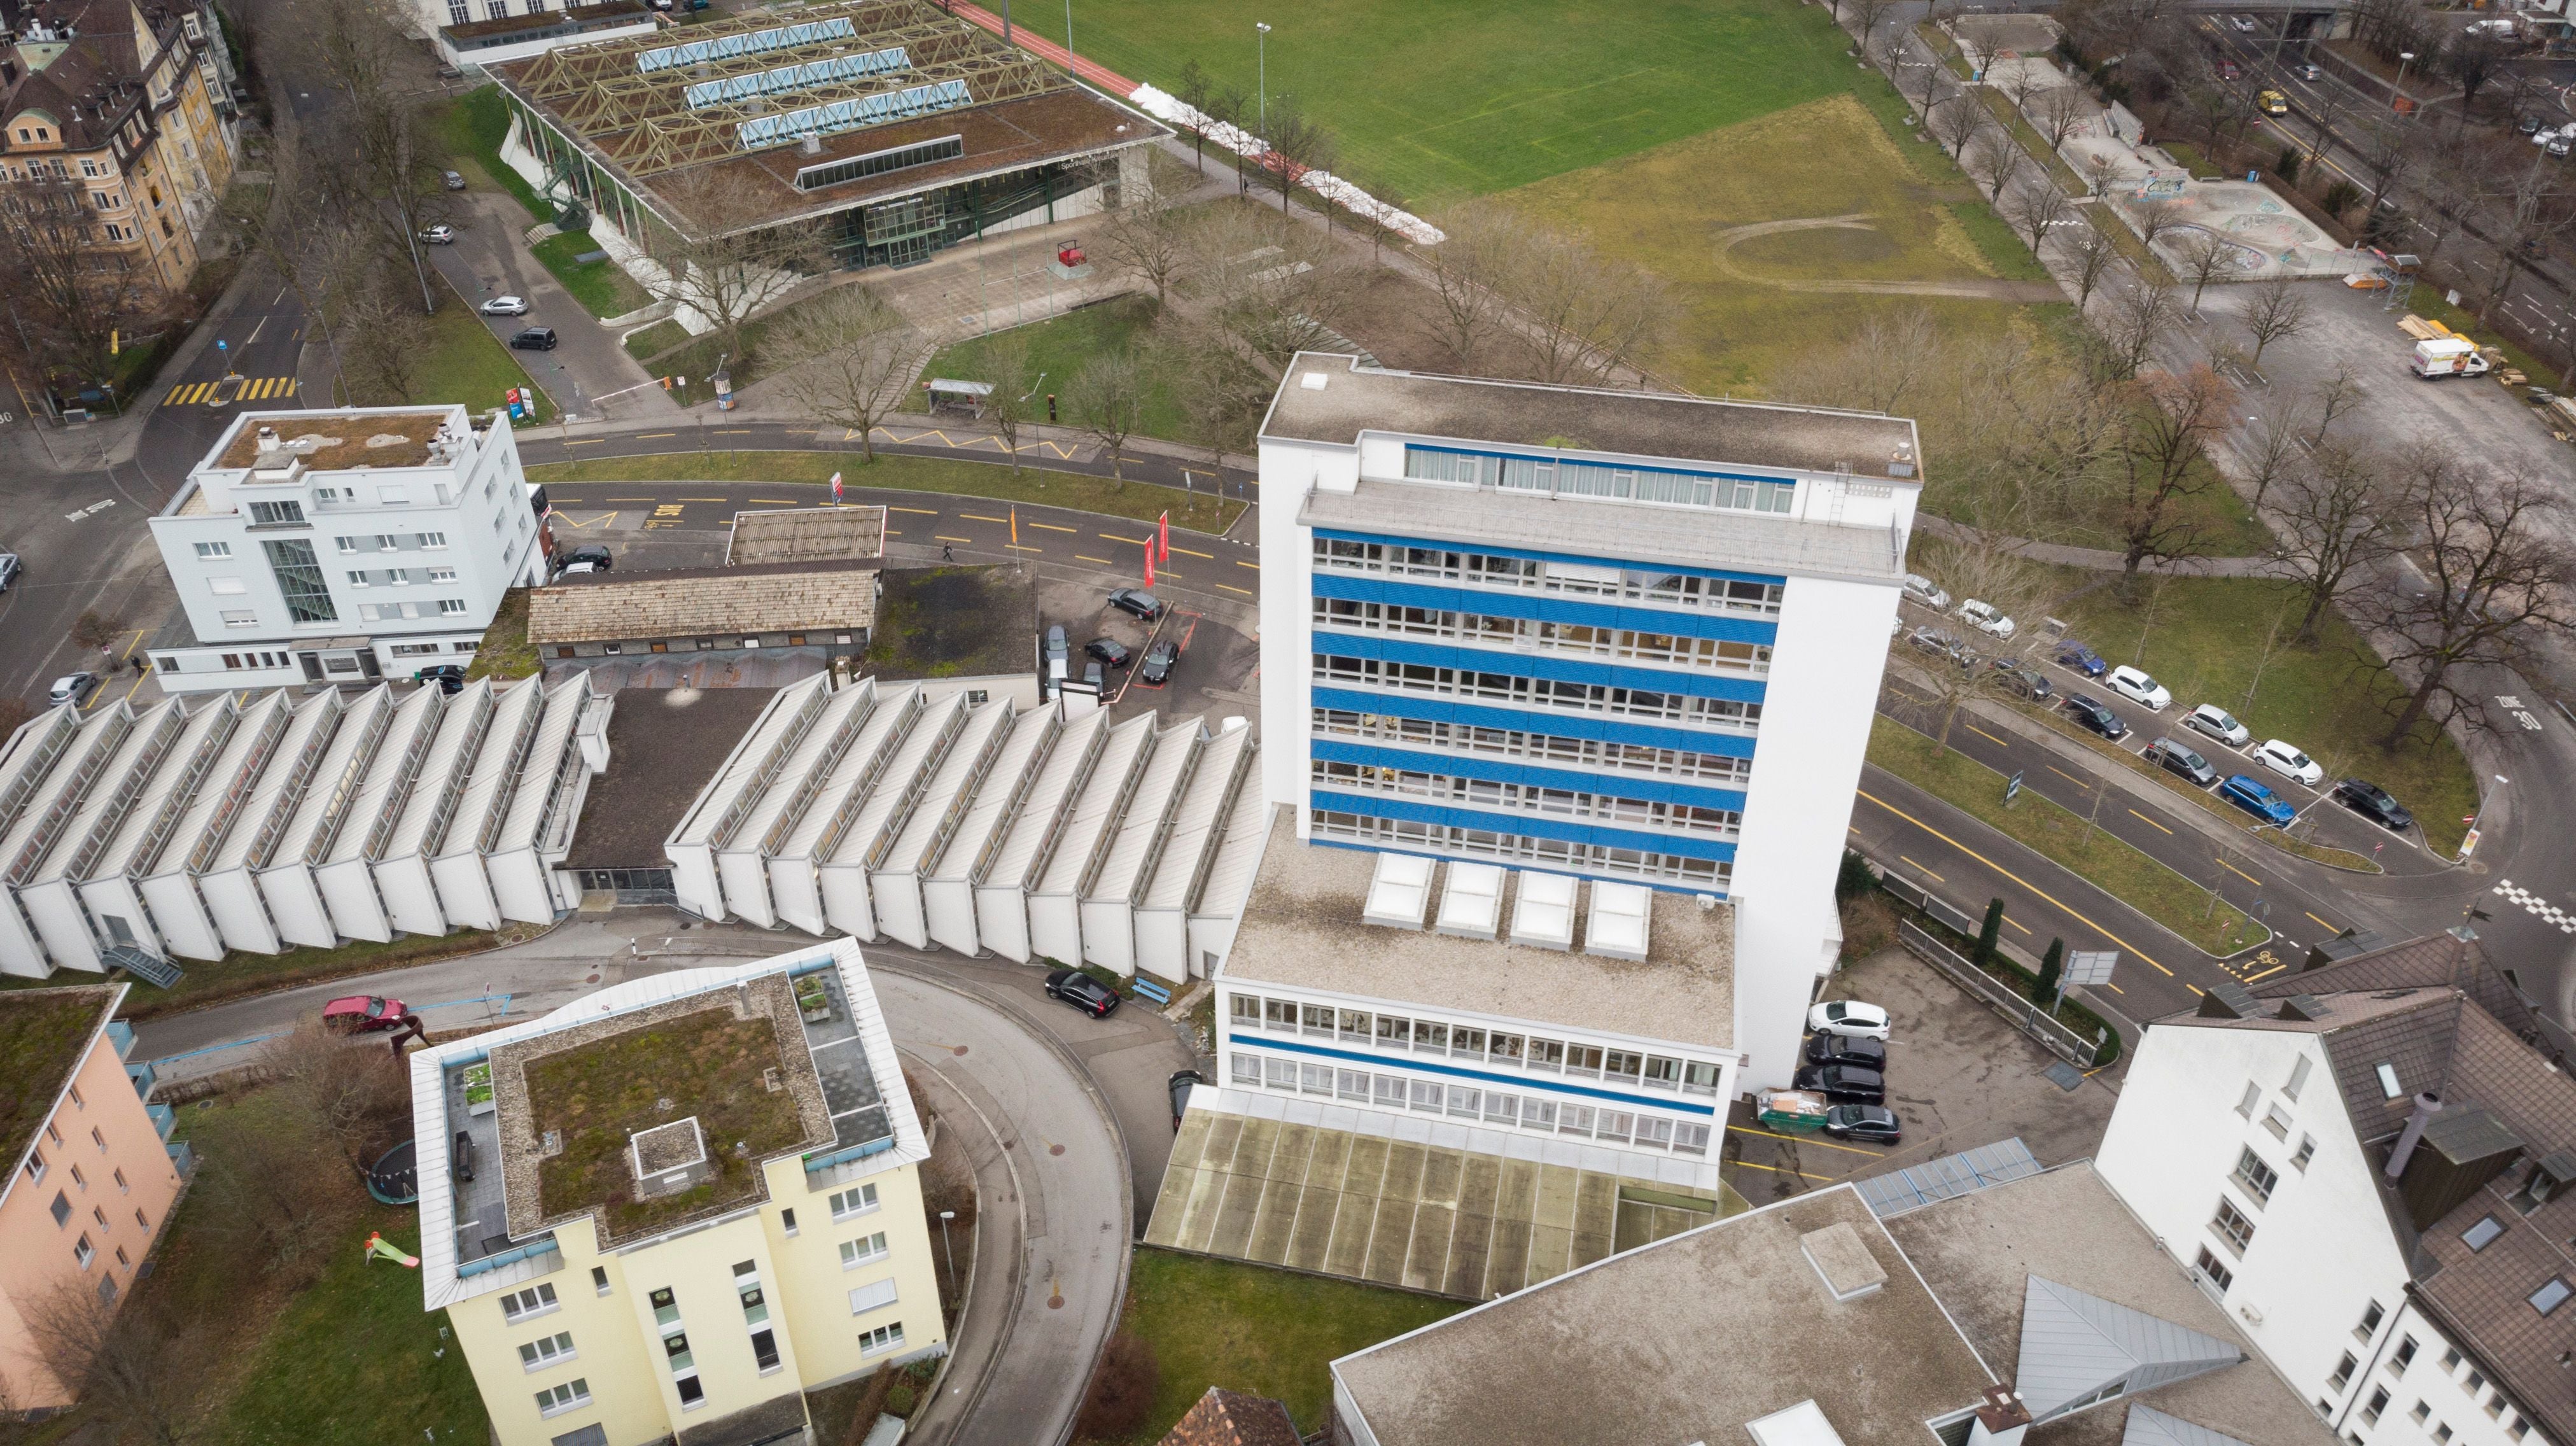
[[[997,5],[992,5],[997,8]],[[1074,49],[1149,85],[1198,62],[1321,121],[1340,173],[1414,209],[1507,191],[1852,85],[1850,44],[1795,0],[1074,0]],[[1064,8],[1015,26],[1061,41]]]

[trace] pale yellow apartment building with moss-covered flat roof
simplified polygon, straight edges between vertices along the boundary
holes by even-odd
[[[804,1441],[948,1348],[930,1157],[858,943],[412,1054],[420,1276],[502,1446]]]

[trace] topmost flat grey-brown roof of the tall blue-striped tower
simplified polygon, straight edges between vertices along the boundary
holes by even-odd
[[[1321,389],[1301,384],[1311,371],[1327,376]],[[1262,420],[1262,436],[1283,441],[1352,446],[1363,430],[1860,477],[1888,477],[1899,446],[1922,456],[1914,423],[1878,412],[1432,376],[1334,353],[1298,353]]]

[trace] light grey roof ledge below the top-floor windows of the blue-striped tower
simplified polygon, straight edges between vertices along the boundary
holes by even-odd
[[[1309,528],[1860,583],[1896,583],[1904,577],[1906,552],[1896,528],[1368,479],[1352,492],[1309,492],[1296,521]]]

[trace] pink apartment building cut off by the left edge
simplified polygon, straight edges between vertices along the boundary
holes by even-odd
[[[121,1307],[160,1240],[191,1157],[129,1065],[126,985],[0,992],[0,1402],[72,1405],[33,1322],[67,1291]]]

